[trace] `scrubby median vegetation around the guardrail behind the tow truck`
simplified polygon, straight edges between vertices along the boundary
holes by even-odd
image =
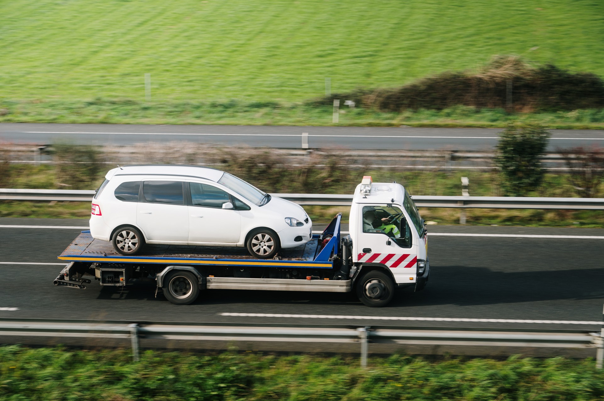
[[[253,155],[252,155],[253,156]],[[414,195],[459,195],[460,177],[469,177],[470,194],[475,196],[502,196],[501,177],[496,172],[480,171],[361,171],[342,168],[330,174],[320,169],[307,172],[275,168],[267,174],[259,174],[255,169],[245,170],[245,160],[233,160],[241,165],[229,165],[228,171],[245,180],[255,183],[268,192],[313,193],[316,188],[326,194],[348,194],[354,191],[362,175],[369,174],[375,182],[396,181],[402,183]],[[74,168],[78,168],[77,165]],[[67,170],[66,174],[68,174]],[[104,172],[104,171],[101,171]],[[306,174],[306,180],[297,174]],[[57,172],[52,165],[10,165],[9,178],[2,185],[5,188],[66,189],[57,183]],[[259,182],[258,177],[268,177]],[[78,189],[98,188],[103,181],[99,176],[85,187]],[[81,184],[81,183],[80,183]],[[600,185],[597,196],[602,196],[604,183]],[[546,174],[543,185],[528,196],[573,197],[574,188],[565,174]],[[349,208],[345,206],[305,206],[313,222],[328,223],[338,212],[348,218]],[[39,202],[39,201],[0,201],[0,217],[32,218],[86,218],[90,205],[86,202]],[[437,224],[458,224],[459,209],[422,208],[423,218]],[[522,209],[466,209],[467,224],[500,225],[500,226],[536,226],[536,227],[604,227],[602,210],[522,210]]]

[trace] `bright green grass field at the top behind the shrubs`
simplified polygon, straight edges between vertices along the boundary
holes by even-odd
[[[494,54],[604,75],[604,2],[594,0],[0,5],[0,99],[9,101],[144,101],[148,73],[154,103],[291,104],[324,95],[325,78],[332,92],[397,86]]]

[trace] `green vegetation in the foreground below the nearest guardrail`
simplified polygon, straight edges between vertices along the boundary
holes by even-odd
[[[604,397],[593,360],[199,355],[0,347],[0,400],[475,400]]]

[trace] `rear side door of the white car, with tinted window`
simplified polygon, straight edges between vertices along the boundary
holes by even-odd
[[[188,211],[182,181],[147,180],[137,204],[137,225],[147,241],[188,241]]]

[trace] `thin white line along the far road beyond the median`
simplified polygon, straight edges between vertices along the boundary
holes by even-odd
[[[204,134],[204,133],[177,133],[177,132],[87,132],[87,131],[24,131],[24,134],[114,134],[114,135],[198,135],[198,136],[298,136],[302,134]],[[341,137],[341,138],[429,138],[429,139],[499,139],[498,136],[425,136],[425,135],[312,135],[315,137]],[[602,138],[550,138],[550,139],[578,139],[584,141],[604,141]]]

